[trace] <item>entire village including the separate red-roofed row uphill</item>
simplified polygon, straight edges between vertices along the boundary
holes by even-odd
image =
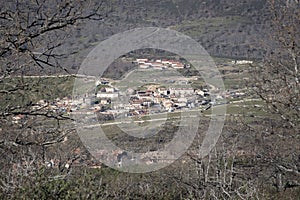
[[[138,58],[134,63],[139,70],[190,68],[189,64],[166,59],[149,60]],[[172,80],[172,82],[181,81],[180,84],[174,86],[165,86],[159,83],[145,84],[139,89],[127,88],[126,91],[123,91],[114,86],[114,80],[100,78],[95,81],[96,92],[93,95],[86,94],[76,98],[66,96],[52,101],[42,99],[32,106],[32,110],[42,111],[47,109],[67,116],[71,114],[97,114],[102,116],[101,120],[104,119],[106,121],[113,120],[121,114],[125,114],[126,117],[139,117],[194,108],[206,110],[222,102],[218,100],[234,99],[243,95],[243,93],[238,91],[227,90],[223,94],[211,96],[211,86],[193,88],[190,84],[187,84],[187,80],[193,81],[193,78],[185,81]],[[23,117],[22,115],[17,115],[12,122],[18,123]],[[97,121],[97,119],[95,120]]]

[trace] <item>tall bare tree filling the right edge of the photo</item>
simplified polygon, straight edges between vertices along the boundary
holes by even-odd
[[[253,73],[254,92],[268,118],[252,126],[261,156],[278,191],[300,186],[300,3],[270,0],[271,31],[266,57]],[[254,66],[253,66],[254,67]]]

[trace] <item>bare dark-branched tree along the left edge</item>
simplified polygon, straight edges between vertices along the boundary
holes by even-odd
[[[55,164],[63,169],[78,158],[78,153],[72,152],[78,144],[68,140],[74,130],[64,126],[70,123],[70,118],[51,108],[54,98],[66,91],[56,88],[55,76],[47,79],[45,75],[68,74],[62,60],[73,52],[64,50],[65,40],[86,20],[103,20],[104,7],[104,1],[2,2],[0,188],[3,193],[11,193],[20,186],[21,179],[31,176],[41,166],[53,165],[51,159],[58,160]],[[69,79],[60,81],[66,80]],[[59,146],[65,142],[69,148]],[[53,145],[58,146],[52,148]],[[60,153],[53,155],[50,148]]]

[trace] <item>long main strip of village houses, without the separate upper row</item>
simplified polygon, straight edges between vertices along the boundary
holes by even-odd
[[[142,116],[155,113],[173,112],[182,109],[191,109],[200,106],[211,106],[211,94],[208,89],[193,89],[189,85],[182,87],[163,87],[160,85],[148,85],[143,90],[128,89],[122,92],[117,88],[99,82],[101,89],[94,97],[88,94],[84,97],[72,99],[71,97],[57,98],[54,101],[40,100],[31,109],[35,111],[50,110],[53,113],[67,114],[93,114],[117,116],[124,114],[130,116]],[[245,93],[227,91],[215,99],[234,99],[243,97]],[[120,101],[120,99],[126,100]],[[84,113],[83,113],[84,112]],[[16,115],[12,123],[20,123],[25,115]]]

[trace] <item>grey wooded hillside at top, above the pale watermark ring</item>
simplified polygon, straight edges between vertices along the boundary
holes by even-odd
[[[109,1],[102,21],[87,22],[74,30],[68,46],[78,54],[67,63],[76,69],[89,50],[104,39],[149,26],[182,32],[213,56],[261,59],[270,20],[266,6],[260,0]]]

